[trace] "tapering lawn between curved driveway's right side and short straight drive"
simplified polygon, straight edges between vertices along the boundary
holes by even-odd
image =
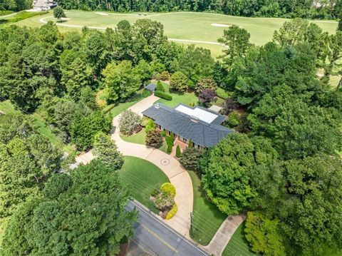
[[[207,245],[227,215],[221,213],[216,205],[207,200],[201,188],[201,180],[196,173],[193,171],[188,173],[194,190],[192,238],[201,245]]]

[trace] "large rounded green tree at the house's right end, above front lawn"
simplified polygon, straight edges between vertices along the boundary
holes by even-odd
[[[249,173],[257,165],[271,163],[277,156],[269,140],[232,133],[221,140],[202,160],[202,185],[222,213],[237,214],[247,208],[257,191]]]

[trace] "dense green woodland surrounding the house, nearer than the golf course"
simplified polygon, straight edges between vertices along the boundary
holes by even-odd
[[[245,29],[230,26],[219,39],[228,48],[215,61],[207,49],[167,41],[162,24],[148,19],[66,34],[51,21],[38,29],[2,26],[1,101],[21,111],[0,116],[0,217],[9,220],[4,255],[118,252],[119,242],[132,234],[135,216],[121,207],[129,195],[117,175],[100,161],[71,175],[56,174],[68,171],[67,159],[27,116],[38,113],[64,143],[88,150],[98,145],[99,133],[110,131],[105,106],[127,101],[165,73],[179,93],[222,88],[229,94],[225,113],[242,113],[237,133],[200,154],[192,149],[189,158],[222,213],[248,211],[245,232],[254,252],[321,255],[326,247],[341,248],[342,81],[336,88],[329,84],[331,74],[342,76],[339,29],[327,34],[294,19],[274,32],[273,41],[254,46]],[[93,195],[92,186],[101,190]],[[86,199],[80,200],[82,193]],[[92,242],[81,247],[81,218],[68,217],[85,207],[83,202],[98,203],[101,214],[113,216],[112,197],[120,221],[97,219],[85,226],[88,237],[82,238]],[[95,213],[86,209],[90,220]],[[51,219],[56,226],[48,225]],[[58,246],[46,237],[57,237]]]

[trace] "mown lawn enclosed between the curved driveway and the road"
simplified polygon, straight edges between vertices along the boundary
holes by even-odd
[[[157,211],[150,200],[154,188],[169,183],[170,180],[156,165],[141,158],[125,156],[123,168],[119,170],[124,185],[129,186],[133,198],[138,200],[150,210]]]

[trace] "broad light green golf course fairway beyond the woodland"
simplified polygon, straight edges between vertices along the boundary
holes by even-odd
[[[152,19],[160,21],[164,26],[165,35],[170,39],[197,40],[217,42],[222,37],[224,29],[227,27],[212,26],[212,24],[235,24],[240,26],[251,34],[251,42],[256,45],[263,45],[271,41],[274,31],[279,29],[284,21],[288,19],[280,18],[247,18],[239,16],[227,16],[222,14],[208,14],[196,12],[170,12],[165,14],[147,14],[139,16],[138,14],[115,14],[106,12],[108,15],[96,14],[98,11],[66,11],[67,21],[58,24],[62,32],[81,30],[83,26],[93,26],[97,29],[106,27],[115,28],[119,21],[125,19],[134,23],[138,19]],[[102,12],[103,13],[103,12]],[[41,26],[43,21],[53,20],[52,11],[43,16],[34,16],[19,21],[21,26]],[[332,21],[311,21],[318,24],[323,31],[335,33],[337,22]],[[65,26],[67,25],[67,26]],[[68,27],[69,26],[69,27]],[[70,26],[76,26],[75,28]],[[191,43],[189,41],[184,43]],[[213,56],[219,56],[222,46],[195,43],[198,46],[204,46],[212,50]]]

